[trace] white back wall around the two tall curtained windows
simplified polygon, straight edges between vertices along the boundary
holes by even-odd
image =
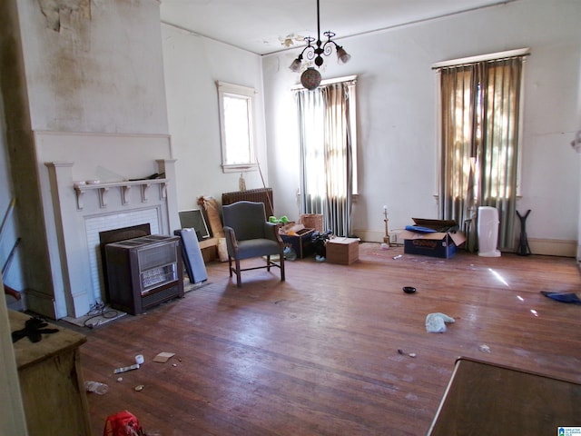
[[[534,253],[560,247],[575,255],[579,164],[569,143],[579,124],[579,16],[581,2],[576,0],[560,0],[558,7],[544,0],[521,0],[340,40],[352,56],[350,63],[338,65],[330,56],[322,76],[359,75],[355,233],[380,240],[383,204],[389,207],[392,229],[409,224],[412,216],[437,217],[437,84],[431,65],[530,47],[524,86],[523,197],[517,210],[532,210],[527,233]],[[290,216],[296,216],[299,186],[290,88],[299,74],[288,66],[298,53],[263,58],[271,185],[281,201],[280,213]]]

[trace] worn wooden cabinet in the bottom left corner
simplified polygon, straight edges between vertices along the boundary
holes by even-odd
[[[25,328],[29,315],[9,311],[12,332]],[[29,436],[90,436],[90,422],[79,347],[83,334],[59,331],[40,342],[25,337],[14,343],[18,379]]]

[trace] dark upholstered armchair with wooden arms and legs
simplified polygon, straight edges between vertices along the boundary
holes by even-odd
[[[276,224],[266,221],[263,203],[237,202],[222,206],[224,236],[228,248],[230,276],[236,274],[236,285],[241,287],[241,272],[275,266],[281,269],[284,281],[284,245]],[[266,256],[266,264],[241,269],[241,260]],[[271,259],[277,256],[278,262]],[[234,266],[232,266],[232,262]]]

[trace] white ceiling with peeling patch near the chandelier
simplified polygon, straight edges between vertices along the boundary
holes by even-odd
[[[320,32],[365,34],[514,0],[320,0]],[[161,0],[162,22],[256,54],[316,36],[317,0]],[[321,35],[322,36],[322,35]]]

